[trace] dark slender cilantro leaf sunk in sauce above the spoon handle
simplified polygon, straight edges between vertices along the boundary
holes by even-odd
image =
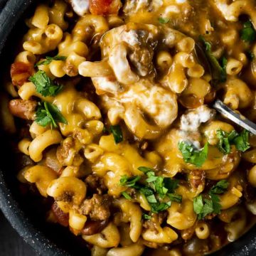
[[[226,58],[222,58],[219,63],[217,58],[215,58],[212,53],[211,44],[206,41],[203,36],[199,36],[199,41],[203,43],[206,57],[210,63],[211,68],[213,68],[213,80],[217,82],[225,82],[225,80],[227,79],[226,65],[228,63],[228,60]]]

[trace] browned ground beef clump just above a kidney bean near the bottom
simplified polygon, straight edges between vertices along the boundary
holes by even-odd
[[[106,220],[110,218],[111,201],[110,196],[95,193],[92,198],[83,201],[80,212],[83,215],[90,215],[92,220]]]

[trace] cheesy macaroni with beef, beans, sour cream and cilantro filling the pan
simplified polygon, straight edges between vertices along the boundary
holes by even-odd
[[[44,1],[0,95],[18,180],[92,256],[204,255],[255,223],[251,0]],[[17,122],[17,119],[24,119]]]

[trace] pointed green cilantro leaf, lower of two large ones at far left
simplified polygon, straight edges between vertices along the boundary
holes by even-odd
[[[57,122],[61,122],[63,124],[68,124],[67,120],[61,114],[60,110],[57,106],[51,104],[50,102],[43,102],[38,104],[38,108],[36,110],[36,122],[46,127],[50,124],[50,127],[57,128]]]

